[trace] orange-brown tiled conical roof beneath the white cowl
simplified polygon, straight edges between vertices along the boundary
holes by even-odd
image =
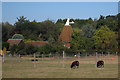
[[[63,30],[62,30],[61,34],[60,34],[59,41],[62,41],[62,42],[65,42],[65,43],[71,42],[72,33],[73,33],[72,26],[71,25],[65,25],[63,27]]]

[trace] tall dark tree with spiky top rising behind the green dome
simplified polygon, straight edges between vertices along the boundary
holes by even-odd
[[[24,16],[20,16],[17,18],[17,22],[15,23],[15,31],[17,30],[17,34],[22,34],[25,39],[37,40],[37,31],[38,25],[37,22],[30,22]]]

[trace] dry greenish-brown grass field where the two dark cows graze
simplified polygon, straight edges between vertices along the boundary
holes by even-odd
[[[111,60],[114,58],[114,60]],[[39,59],[38,62],[22,58],[19,62],[16,57],[6,57],[2,64],[3,78],[117,78],[118,57],[104,56],[104,68],[96,68],[95,57],[81,57],[78,69],[70,69],[71,62],[78,60],[70,58],[63,60],[57,58]],[[34,65],[35,64],[35,65]]]

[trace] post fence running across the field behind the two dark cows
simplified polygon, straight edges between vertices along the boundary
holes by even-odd
[[[94,53],[94,54],[81,54],[81,53],[73,53],[73,54],[68,54],[68,53],[65,53],[63,51],[63,54],[59,54],[59,53],[56,53],[56,54],[36,54],[34,53],[33,55],[11,55],[11,54],[4,54],[3,57],[2,57],[2,60],[3,62],[9,62],[9,63],[13,63],[14,61],[15,62],[32,62],[34,63],[34,67],[36,67],[36,62],[45,62],[46,60],[47,61],[56,61],[57,64],[61,64],[62,67],[64,68],[65,67],[65,64],[66,63],[69,63],[71,64],[72,61],[74,60],[78,60],[80,63],[83,63],[83,64],[96,64],[96,62],[98,60],[104,60],[106,61],[106,63],[108,63],[109,61],[108,60],[111,60],[115,57],[115,59],[117,59],[117,55],[110,55],[109,53],[107,55],[104,55],[104,54],[98,54],[98,53]]]

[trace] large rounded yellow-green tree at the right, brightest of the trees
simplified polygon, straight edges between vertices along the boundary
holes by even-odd
[[[114,50],[117,48],[117,37],[115,32],[111,31],[107,26],[101,26],[96,30],[94,36],[94,44],[97,50]]]

